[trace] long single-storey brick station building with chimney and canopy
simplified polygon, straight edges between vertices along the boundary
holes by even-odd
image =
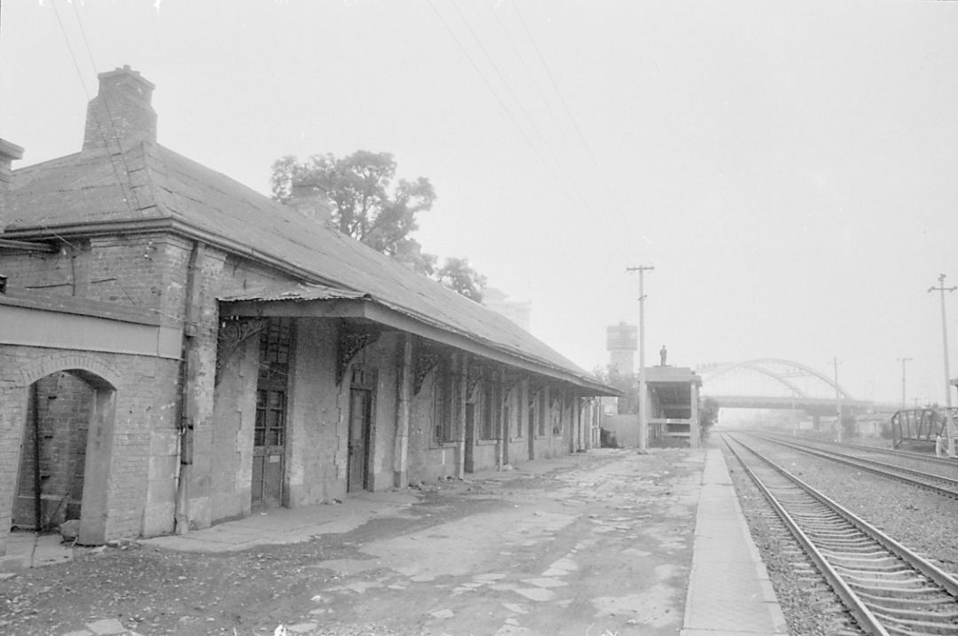
[[[100,75],[79,152],[0,142],[11,527],[186,533],[598,439],[616,395],[504,316],[156,141]]]

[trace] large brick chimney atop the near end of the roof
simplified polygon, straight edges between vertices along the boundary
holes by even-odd
[[[97,76],[100,92],[86,108],[83,149],[117,151],[130,143],[156,141],[156,112],[149,105],[155,86],[129,66]],[[119,144],[119,148],[118,148]]]

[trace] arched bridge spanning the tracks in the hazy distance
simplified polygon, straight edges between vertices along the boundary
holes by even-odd
[[[756,358],[701,365],[702,396],[719,406],[746,409],[793,409],[812,415],[863,412],[871,403],[855,399],[828,375],[793,360]]]

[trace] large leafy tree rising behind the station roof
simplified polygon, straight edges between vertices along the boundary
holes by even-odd
[[[394,257],[423,274],[430,274],[436,258],[422,253],[410,233],[417,229],[416,215],[427,212],[436,192],[426,177],[399,179],[396,161],[388,152],[356,150],[337,158],[314,154],[300,162],[285,156],[273,162],[273,197],[287,202],[293,186],[308,186],[325,193],[332,206],[332,222],[343,234]]]

